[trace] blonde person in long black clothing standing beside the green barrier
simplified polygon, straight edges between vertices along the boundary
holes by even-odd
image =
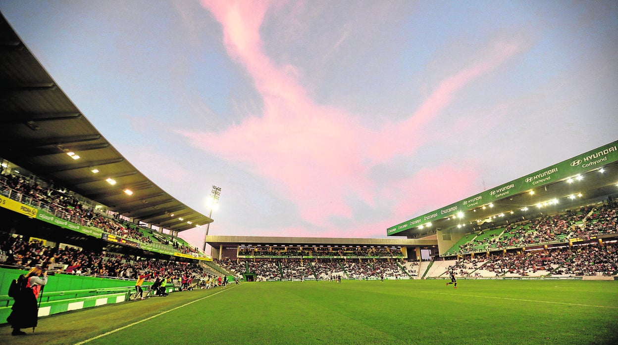
[[[13,311],[6,320],[13,328],[12,335],[25,335],[26,333],[20,328],[32,327],[34,330],[38,323],[36,299],[38,299],[41,286],[47,284],[47,272],[43,272],[43,268],[39,266],[33,267],[26,275],[20,275],[17,283],[20,291],[14,297],[15,302],[11,307]]]

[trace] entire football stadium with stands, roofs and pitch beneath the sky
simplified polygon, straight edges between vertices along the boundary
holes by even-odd
[[[128,162],[1,20],[2,343],[618,342],[618,141],[388,238],[208,235],[212,214]],[[178,236],[195,227],[201,248]],[[9,285],[37,265],[38,326],[11,336]]]

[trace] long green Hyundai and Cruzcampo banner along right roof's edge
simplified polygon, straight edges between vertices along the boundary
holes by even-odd
[[[490,202],[497,201],[504,197],[513,194],[519,194],[525,191],[530,191],[538,187],[554,183],[556,181],[565,180],[569,177],[575,177],[582,173],[588,172],[595,168],[603,167],[605,164],[618,161],[618,141],[601,146],[598,149],[588,151],[571,159],[564,160],[560,163],[551,165],[547,168],[530,173],[517,180],[513,180],[496,188],[483,191],[474,196],[467,197],[441,209],[434,210],[420,217],[412,218],[407,222],[400,223],[394,227],[387,228],[386,235],[395,235],[401,231],[405,231],[414,227],[420,227],[436,219],[450,217],[458,212],[475,209],[476,207],[487,205]]]

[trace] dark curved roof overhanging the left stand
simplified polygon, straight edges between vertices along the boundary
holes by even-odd
[[[0,83],[2,158],[127,217],[161,228],[183,231],[213,222],[148,180],[114,149],[2,15]]]

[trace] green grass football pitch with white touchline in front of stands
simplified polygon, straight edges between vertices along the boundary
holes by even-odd
[[[0,343],[618,343],[617,281],[445,283],[243,283],[40,318],[26,336],[5,325]]]

